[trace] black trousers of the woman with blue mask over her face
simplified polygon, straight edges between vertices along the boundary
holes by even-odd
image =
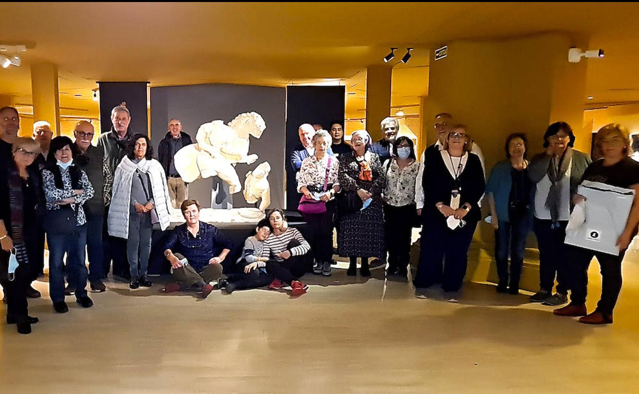
[[[389,252],[389,269],[406,268],[410,262],[410,236],[413,230],[412,218],[415,204],[392,206],[384,203],[384,236]]]

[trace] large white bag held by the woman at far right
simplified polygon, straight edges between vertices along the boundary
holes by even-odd
[[[573,211],[566,229],[566,244],[619,255],[619,248],[615,244],[626,227],[635,191],[583,181],[577,193],[586,197],[581,207],[585,209]]]

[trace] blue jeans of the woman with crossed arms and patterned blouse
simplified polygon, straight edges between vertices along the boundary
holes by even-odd
[[[49,241],[49,295],[54,303],[65,300],[65,275],[62,271],[66,254],[66,266],[75,276],[75,298],[86,297],[87,271],[84,265],[87,225],[75,227],[71,234],[47,234]]]

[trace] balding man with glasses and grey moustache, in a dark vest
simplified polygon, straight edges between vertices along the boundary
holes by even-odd
[[[73,129],[75,145],[82,155],[76,160],[86,172],[89,182],[93,185],[95,195],[84,204],[86,214],[87,238],[86,246],[89,257],[89,282],[91,291],[103,292],[106,290],[102,283],[104,269],[102,269],[102,224],[104,222],[104,149],[91,145],[95,131],[88,121],[79,121]],[[68,293],[75,292],[73,273],[68,273]]]

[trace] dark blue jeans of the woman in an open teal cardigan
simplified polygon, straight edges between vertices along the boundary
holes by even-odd
[[[511,222],[499,221],[499,228],[495,230],[495,262],[500,284],[507,284],[514,289],[519,288],[528,229],[530,229],[530,222],[527,218]],[[511,252],[510,275],[508,273],[509,250]]]

